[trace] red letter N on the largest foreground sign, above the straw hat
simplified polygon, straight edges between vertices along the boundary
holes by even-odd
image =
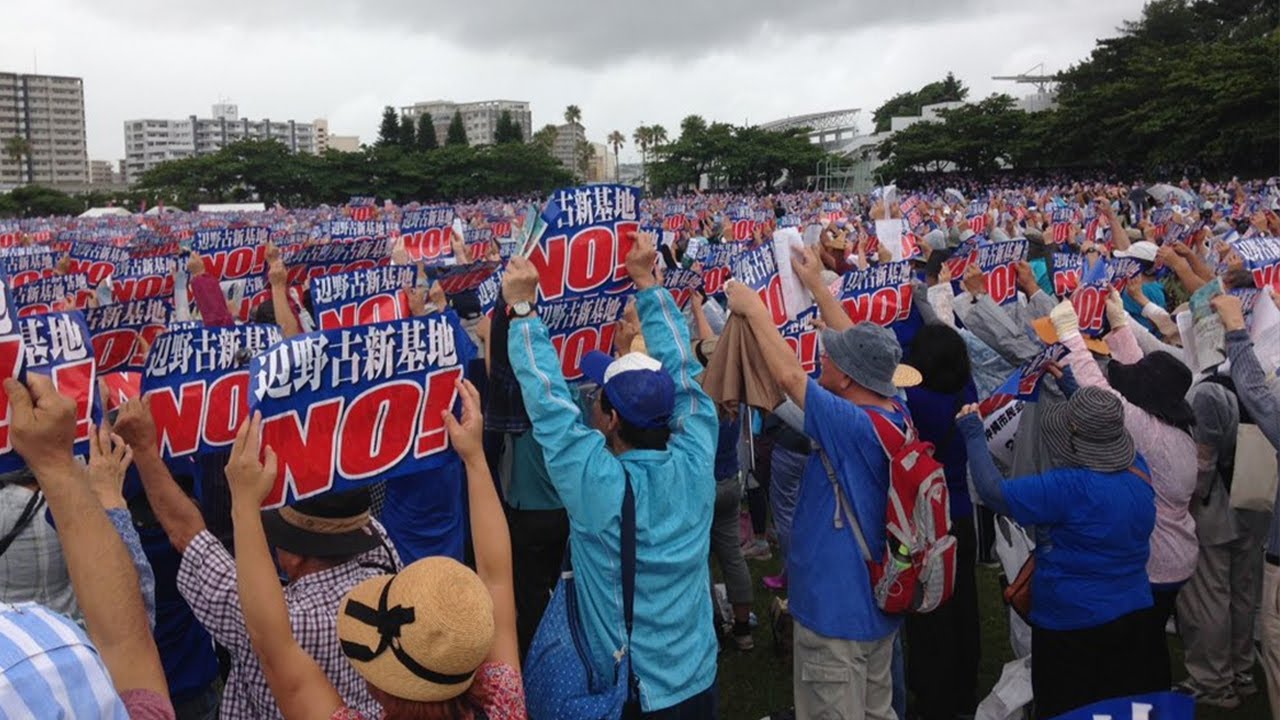
[[[275,487],[262,507],[284,505],[287,488],[301,500],[333,487],[340,416],[342,398],[334,397],[308,407],[303,424],[293,410],[262,420],[262,446],[279,459]]]

